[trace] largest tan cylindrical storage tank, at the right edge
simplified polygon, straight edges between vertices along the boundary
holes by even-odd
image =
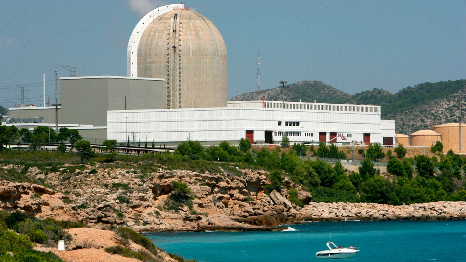
[[[466,124],[461,124],[461,152],[466,152]],[[459,123],[439,124],[432,126],[432,130],[442,136],[443,152],[452,150],[459,153]]]

